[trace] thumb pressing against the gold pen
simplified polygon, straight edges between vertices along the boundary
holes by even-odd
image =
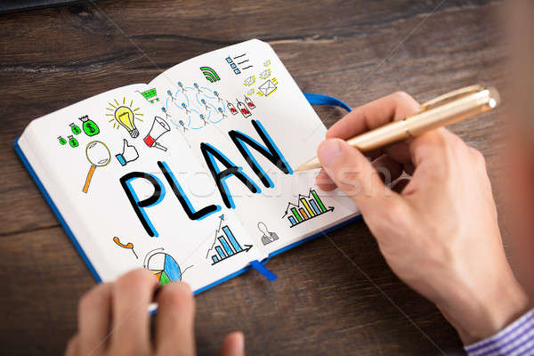
[[[330,139],[322,142],[318,158],[332,181],[354,200],[362,214],[382,210],[384,206],[400,198],[384,185],[368,159],[343,140]]]

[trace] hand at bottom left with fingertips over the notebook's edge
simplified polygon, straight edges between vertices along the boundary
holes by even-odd
[[[195,301],[186,283],[160,287],[149,271],[126,273],[113,283],[93,287],[78,305],[78,332],[65,354],[75,355],[195,355]],[[158,302],[150,337],[149,304]],[[242,356],[240,332],[226,336],[221,355]]]

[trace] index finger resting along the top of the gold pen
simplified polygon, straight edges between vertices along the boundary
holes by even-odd
[[[409,94],[392,93],[353,109],[328,129],[327,138],[347,140],[395,119],[413,115],[420,110],[421,106]]]

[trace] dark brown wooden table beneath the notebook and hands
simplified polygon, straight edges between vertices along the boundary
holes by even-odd
[[[36,117],[149,82],[175,63],[257,37],[305,92],[352,107],[403,89],[424,101],[473,83],[504,85],[499,1],[102,1],[0,17],[0,344],[60,354],[94,281],[12,143]],[[344,115],[319,109],[326,125]],[[497,115],[452,127],[498,177]],[[393,275],[352,223],[197,297],[198,352],[243,330],[248,354],[461,354],[432,303]],[[179,345],[177,345],[179,347]]]

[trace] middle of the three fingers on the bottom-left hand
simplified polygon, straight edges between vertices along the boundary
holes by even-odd
[[[149,304],[158,279],[149,271],[135,270],[117,279],[113,287],[111,354],[150,352]]]

